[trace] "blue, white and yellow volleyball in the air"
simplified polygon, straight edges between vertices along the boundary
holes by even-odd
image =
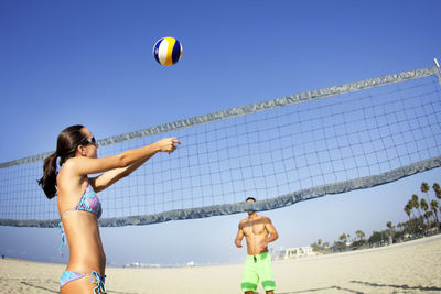
[[[154,59],[161,65],[173,65],[182,56],[181,43],[171,36],[161,37],[153,46]]]

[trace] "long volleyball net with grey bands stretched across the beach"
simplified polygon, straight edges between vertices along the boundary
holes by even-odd
[[[176,137],[99,193],[100,226],[269,210],[441,166],[437,66],[301,92],[99,140],[99,156]],[[0,225],[56,227],[36,179],[51,154],[0,164]],[[258,202],[245,203],[249,196]]]

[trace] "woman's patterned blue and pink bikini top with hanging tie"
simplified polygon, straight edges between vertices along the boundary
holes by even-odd
[[[101,209],[101,203],[98,199],[97,194],[95,190],[92,188],[90,184],[87,184],[86,189],[83,193],[82,198],[79,199],[79,203],[76,205],[75,209],[71,209],[65,211],[61,218],[63,218],[65,215],[69,213],[74,213],[76,210],[83,210],[83,211],[88,211],[97,216],[99,218],[101,216],[103,209]],[[63,228],[63,222],[58,222],[58,229],[62,233],[62,244],[60,246],[60,253],[63,255],[63,247],[66,243],[66,235],[64,233],[64,228]]]

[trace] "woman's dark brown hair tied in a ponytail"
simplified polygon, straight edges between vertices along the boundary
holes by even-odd
[[[43,176],[39,179],[39,185],[42,186],[49,199],[56,196],[56,159],[60,156],[60,166],[62,166],[68,159],[75,156],[77,148],[87,139],[80,132],[83,128],[82,124],[75,124],[64,129],[56,140],[55,153],[44,160]]]

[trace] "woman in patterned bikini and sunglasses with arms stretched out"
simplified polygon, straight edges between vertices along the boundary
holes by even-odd
[[[98,228],[101,205],[96,193],[128,176],[157,152],[171,154],[178,144],[181,142],[176,138],[165,138],[98,159],[98,144],[87,128],[72,126],[60,133],[55,153],[44,161],[39,184],[47,198],[57,196],[61,228],[64,228],[62,237],[64,240],[65,231],[69,247],[68,264],[60,283],[62,294],[106,293],[106,255]],[[60,172],[56,172],[57,157]],[[98,173],[103,174],[88,177],[88,174]]]

